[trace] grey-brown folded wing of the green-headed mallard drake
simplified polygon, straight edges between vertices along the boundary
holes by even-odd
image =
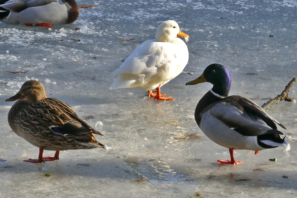
[[[252,100],[241,96],[229,96],[220,100],[210,108],[210,114],[244,136],[271,133],[282,135],[275,123],[283,127],[282,124],[269,116]]]

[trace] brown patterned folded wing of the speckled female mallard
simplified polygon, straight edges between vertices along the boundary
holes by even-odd
[[[102,135],[80,119],[67,104],[55,98],[48,98],[32,103],[23,111],[26,122],[45,124],[60,134],[82,135],[94,133]]]

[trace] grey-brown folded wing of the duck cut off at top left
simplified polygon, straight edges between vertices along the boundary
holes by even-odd
[[[44,6],[57,1],[58,0],[10,0],[0,5],[0,7],[12,12],[21,12],[29,7]]]

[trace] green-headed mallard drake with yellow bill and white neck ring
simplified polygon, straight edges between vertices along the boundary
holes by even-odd
[[[288,143],[276,124],[259,105],[239,95],[228,96],[231,78],[228,70],[220,64],[211,64],[197,79],[187,82],[193,85],[210,82],[214,86],[198,102],[195,120],[204,134],[215,143],[229,149],[231,160],[218,162],[240,164],[235,161],[233,149],[246,149],[257,154],[263,149],[285,146]]]

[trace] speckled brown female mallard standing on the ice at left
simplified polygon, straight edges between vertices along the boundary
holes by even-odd
[[[104,148],[94,134],[102,135],[80,119],[67,104],[48,98],[43,85],[35,80],[23,84],[20,91],[6,101],[18,100],[8,113],[12,130],[39,147],[38,159],[25,162],[41,163],[59,159],[59,151]],[[43,150],[56,151],[55,157],[42,157]]]

